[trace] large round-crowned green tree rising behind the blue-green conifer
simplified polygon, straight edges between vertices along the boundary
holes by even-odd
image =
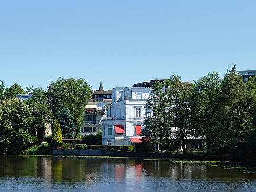
[[[60,107],[66,107],[73,116],[77,135],[84,117],[84,105],[91,97],[91,89],[83,79],[60,77],[48,86],[47,97],[54,116]]]

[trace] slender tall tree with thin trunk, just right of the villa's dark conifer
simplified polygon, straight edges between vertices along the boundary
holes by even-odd
[[[176,137],[181,140],[183,153],[186,153],[185,139],[191,135],[191,87],[190,84],[182,84],[181,77],[171,76],[172,85],[172,125],[176,128]]]

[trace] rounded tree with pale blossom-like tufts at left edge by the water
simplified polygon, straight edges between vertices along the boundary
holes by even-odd
[[[32,108],[17,98],[0,102],[0,153],[20,154],[37,142]]]

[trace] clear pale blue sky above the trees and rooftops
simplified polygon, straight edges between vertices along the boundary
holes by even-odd
[[[256,1],[0,1],[0,80],[98,89],[256,70]]]

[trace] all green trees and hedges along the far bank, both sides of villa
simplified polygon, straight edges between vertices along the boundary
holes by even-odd
[[[46,91],[26,89],[25,92],[17,83],[5,88],[4,81],[0,81],[1,154],[42,154],[44,150],[48,154],[48,149],[60,147],[61,138],[81,138],[84,105],[91,97],[85,80],[60,77]],[[16,94],[28,92],[33,95],[26,102],[15,98]],[[161,151],[181,153],[182,146],[183,153],[201,150],[209,156],[250,161],[256,158],[256,77],[244,83],[235,66],[223,79],[212,72],[194,84],[181,82],[181,77],[172,75],[162,83],[156,80],[150,94],[143,143],[135,145],[136,150],[154,151],[159,146]],[[48,138],[46,125],[53,127]],[[93,137],[101,136],[99,133]],[[40,145],[43,140],[49,145]],[[65,145],[91,149],[89,145],[63,143],[62,147]]]

